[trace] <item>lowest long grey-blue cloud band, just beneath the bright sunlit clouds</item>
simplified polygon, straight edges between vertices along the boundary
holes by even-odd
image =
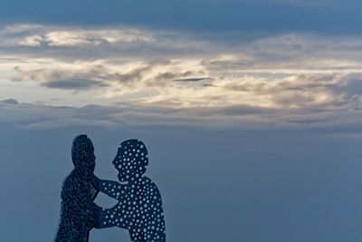
[[[2,104],[2,105],[1,105]],[[205,130],[263,130],[343,127],[362,121],[348,106],[303,108],[262,108],[248,105],[182,108],[179,102],[124,102],[114,106],[89,105],[81,108],[0,102],[0,121],[23,129],[53,130],[64,127],[180,128]]]

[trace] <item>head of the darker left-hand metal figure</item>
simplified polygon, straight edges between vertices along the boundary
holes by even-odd
[[[74,167],[93,171],[96,165],[94,148],[91,140],[85,134],[74,138],[71,146],[71,160]]]

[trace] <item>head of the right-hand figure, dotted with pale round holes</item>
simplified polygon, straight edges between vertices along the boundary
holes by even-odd
[[[112,164],[119,170],[119,181],[138,179],[146,172],[148,150],[140,140],[123,141]]]

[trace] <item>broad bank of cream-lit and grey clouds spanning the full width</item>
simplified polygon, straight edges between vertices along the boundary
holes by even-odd
[[[29,36],[33,37],[26,39]],[[278,117],[270,121],[296,126],[326,120],[314,117],[314,111],[340,114],[361,107],[362,42],[356,35],[289,33],[223,42],[125,26],[18,24],[3,28],[0,38],[2,95],[21,102],[73,106],[128,102],[132,111],[157,107],[156,113],[145,112],[155,123],[192,123],[190,113],[199,111],[193,115],[203,120],[204,110],[223,110],[233,117],[233,108],[248,112],[240,107],[252,107],[279,115],[282,111],[281,121],[276,121]],[[23,93],[14,94],[14,87]],[[68,95],[66,102],[55,101],[52,90]],[[186,117],[164,116],[162,109],[186,110]],[[300,117],[298,110],[310,118]],[[142,115],[132,111],[115,115],[125,120]],[[264,117],[259,112],[249,115],[250,120]],[[230,122],[249,122],[245,117],[236,115]],[[222,115],[203,121],[229,123]]]

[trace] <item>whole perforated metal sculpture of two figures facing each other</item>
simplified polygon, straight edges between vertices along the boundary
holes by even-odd
[[[148,150],[142,141],[120,144],[112,164],[121,183],[93,174],[94,149],[86,135],[74,139],[71,154],[75,168],[62,188],[62,218],[55,242],[87,242],[92,227],[128,229],[133,242],[166,242],[161,195],[144,176]],[[98,207],[93,199],[99,191],[119,202],[113,208]]]

